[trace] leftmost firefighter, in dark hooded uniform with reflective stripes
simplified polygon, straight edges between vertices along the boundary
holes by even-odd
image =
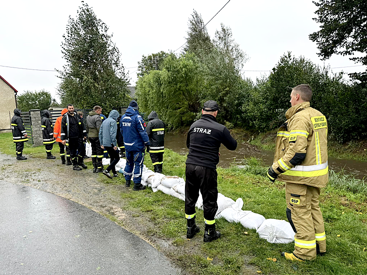
[[[11,130],[13,132],[13,142],[17,150],[17,160],[26,160],[23,154],[24,142],[28,141],[28,134],[24,129],[23,119],[20,117],[20,109],[14,109],[14,116],[11,118]]]

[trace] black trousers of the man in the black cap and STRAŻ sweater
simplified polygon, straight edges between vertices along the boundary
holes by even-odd
[[[203,196],[204,218],[213,224],[218,210],[217,170],[199,165],[186,164],[185,214],[196,213],[195,204],[199,190]]]

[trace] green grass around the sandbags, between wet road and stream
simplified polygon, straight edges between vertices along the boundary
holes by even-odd
[[[15,147],[8,134],[0,135],[0,151],[15,156]],[[25,147],[24,153],[45,157],[44,148]],[[163,172],[167,175],[184,175],[185,156],[166,149]],[[146,158],[146,165],[151,162]],[[252,210],[265,218],[286,220],[284,184],[269,182],[264,176],[266,169],[257,160],[248,160],[247,169],[232,167],[218,169],[218,189],[227,197],[242,198],[243,209]],[[110,180],[99,176],[101,184],[124,184],[122,176]],[[121,191],[122,190],[122,191]],[[163,249],[178,266],[193,274],[295,274],[295,275],[356,275],[367,274],[367,184],[352,177],[331,172],[330,184],[322,190],[321,209],[324,214],[328,253],[305,263],[291,263],[280,258],[280,251],[292,251],[293,243],[271,244],[258,238],[255,230],[247,230],[240,224],[217,220],[222,238],[203,243],[203,211],[197,211],[197,223],[201,232],[191,241],[185,238],[184,202],[151,189],[134,192],[119,188],[116,196],[126,202],[125,209],[133,217],[148,221],[150,226],[141,227],[139,235],[154,240],[167,240],[172,249]],[[114,216],[109,218],[122,226]],[[153,226],[151,226],[153,225]],[[131,228],[130,228],[131,230]],[[131,231],[134,232],[134,229]],[[245,232],[248,232],[246,234]],[[340,235],[340,237],[337,237]],[[158,245],[159,249],[159,245]],[[167,252],[170,251],[170,252]],[[276,258],[274,262],[267,258]],[[249,267],[249,264],[251,265]],[[252,266],[253,265],[253,266]]]

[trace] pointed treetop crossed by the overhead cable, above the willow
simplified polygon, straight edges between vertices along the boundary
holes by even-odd
[[[184,52],[194,53],[200,60],[213,49],[208,30],[204,26],[201,15],[194,10],[188,20],[187,37],[185,37],[187,43]]]

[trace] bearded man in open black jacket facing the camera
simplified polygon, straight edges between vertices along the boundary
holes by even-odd
[[[61,120],[61,140],[65,145],[67,144],[70,149],[70,155],[73,162],[73,170],[80,171],[81,166],[87,169],[84,164],[85,147],[83,139],[87,139],[87,131],[85,130],[84,123],[81,122],[80,117],[74,112],[73,104],[68,104],[68,112],[64,114]],[[76,150],[78,151],[78,159],[76,159]],[[79,165],[79,166],[78,166]]]

